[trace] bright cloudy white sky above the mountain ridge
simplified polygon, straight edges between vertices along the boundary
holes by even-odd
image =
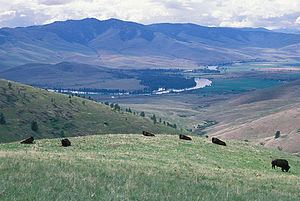
[[[0,0],[0,27],[87,17],[300,29],[300,0]]]

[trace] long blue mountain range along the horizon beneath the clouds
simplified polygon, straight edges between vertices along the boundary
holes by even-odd
[[[62,61],[107,67],[197,67],[300,58],[300,35],[263,28],[142,25],[94,18],[0,29],[1,69]]]

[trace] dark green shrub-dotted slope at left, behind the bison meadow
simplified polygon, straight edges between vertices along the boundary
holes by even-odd
[[[109,106],[79,97],[0,80],[0,113],[6,124],[0,124],[0,142],[20,140],[27,136],[52,138],[94,133],[175,133],[170,127],[154,125],[148,118],[117,112]],[[37,132],[31,123],[38,124]]]

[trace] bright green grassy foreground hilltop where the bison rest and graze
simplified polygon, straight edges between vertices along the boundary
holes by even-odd
[[[98,135],[0,144],[0,199],[298,200],[300,159],[247,142]],[[285,158],[288,173],[271,168]]]

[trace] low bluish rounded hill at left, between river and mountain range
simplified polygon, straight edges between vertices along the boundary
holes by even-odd
[[[0,77],[43,88],[143,89],[140,81],[128,73],[74,62],[24,64],[1,71]]]

